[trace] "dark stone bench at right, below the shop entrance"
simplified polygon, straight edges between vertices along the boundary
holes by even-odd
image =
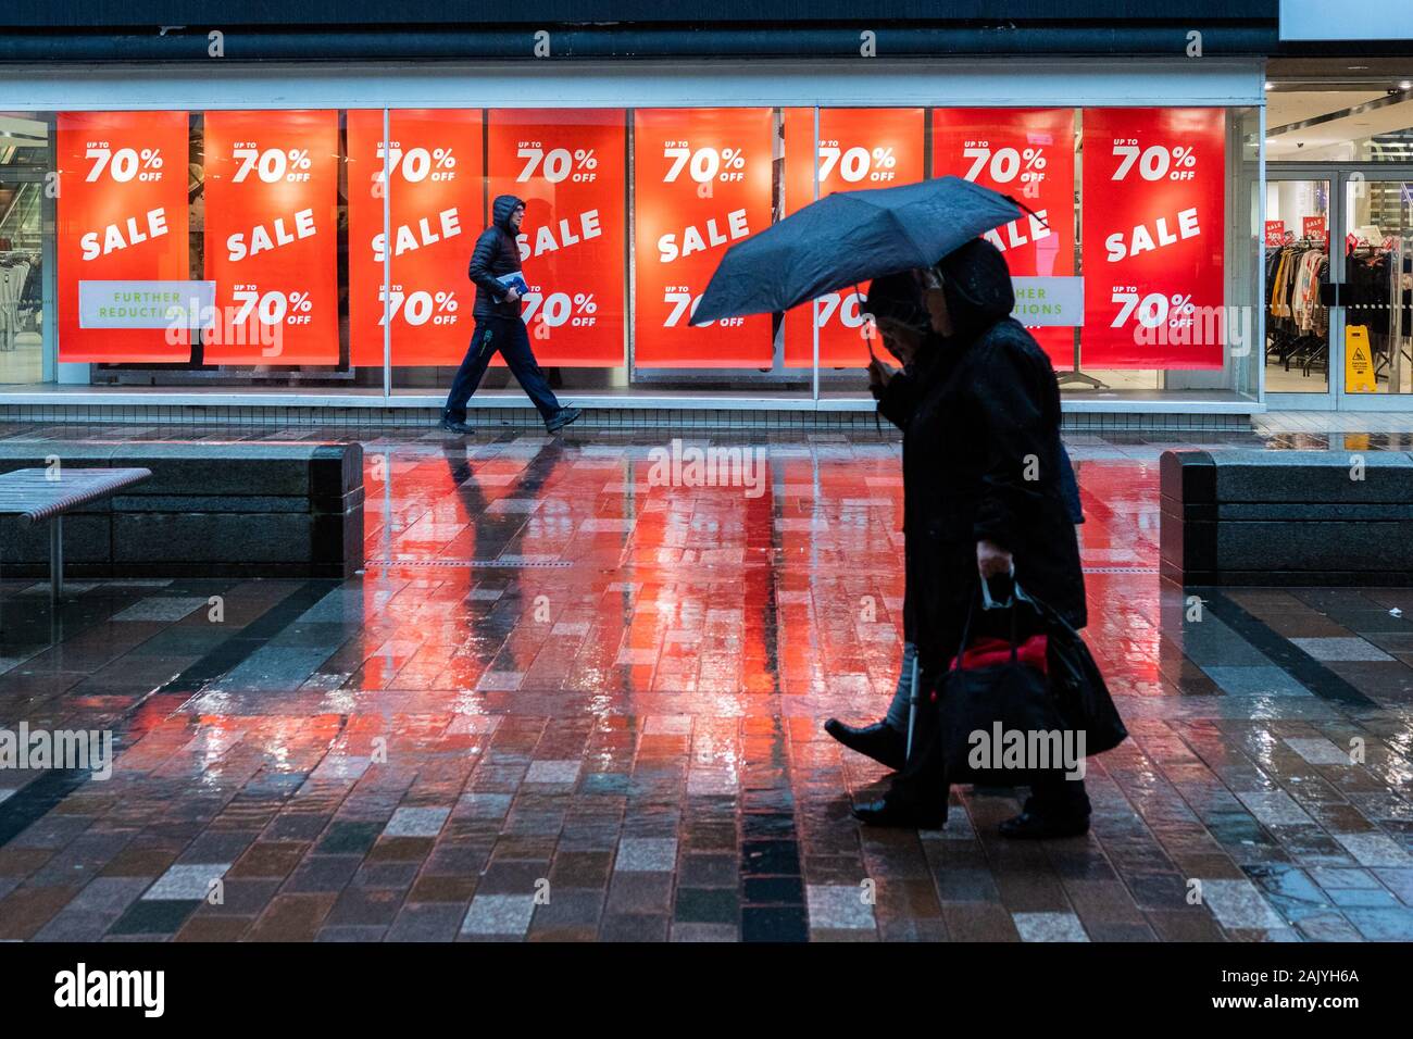
[[[1161,574],[1211,585],[1413,584],[1413,455],[1164,451]]]

